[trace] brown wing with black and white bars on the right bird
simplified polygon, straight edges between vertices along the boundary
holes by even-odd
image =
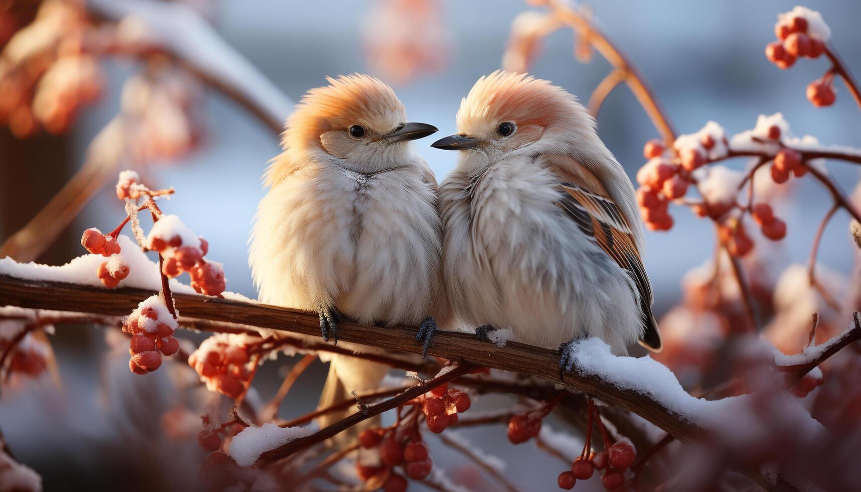
[[[564,163],[561,159],[565,159]],[[635,225],[629,223],[598,177],[585,166],[554,154],[543,156],[543,160],[560,177],[560,208],[634,279],[645,328],[641,342],[649,349],[660,350],[660,333],[652,316],[652,285],[636,246]]]

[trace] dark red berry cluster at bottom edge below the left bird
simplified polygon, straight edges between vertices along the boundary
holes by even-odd
[[[433,460],[428,446],[419,433],[399,432],[403,428],[365,429],[359,434],[362,452],[356,461],[356,475],[362,481],[381,484],[384,492],[404,492],[406,478],[395,473],[395,467],[400,466],[413,480],[431,475]]]

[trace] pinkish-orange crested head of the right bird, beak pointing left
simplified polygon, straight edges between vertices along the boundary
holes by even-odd
[[[562,152],[591,140],[595,121],[561,87],[525,73],[497,71],[480,78],[463,98],[457,129],[432,146],[495,162],[517,153]]]

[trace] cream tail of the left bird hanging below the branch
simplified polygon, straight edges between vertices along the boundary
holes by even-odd
[[[362,392],[379,388],[382,378],[386,376],[389,369],[391,368],[385,364],[376,364],[375,362],[369,362],[361,358],[332,354],[331,363],[329,364],[329,375],[325,379],[325,386],[323,387],[323,393],[320,395],[317,408],[328,408],[335,403],[350,400],[353,398],[352,391],[354,390],[361,395]],[[356,405],[350,405],[350,407],[344,410],[320,415],[317,423],[320,428],[328,427],[338,420],[355,413]],[[364,420],[361,424],[350,427],[343,433],[338,434],[338,436],[333,438],[334,442],[336,445],[350,444],[362,430],[369,427],[379,427],[379,425],[379,416]]]

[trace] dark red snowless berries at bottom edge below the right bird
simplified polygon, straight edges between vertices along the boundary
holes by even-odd
[[[625,470],[636,459],[634,445],[629,440],[620,440],[611,445],[607,452],[591,453],[589,458],[581,456],[571,464],[570,471],[563,471],[558,478],[560,489],[571,490],[578,480],[592,478],[595,470],[604,471],[604,489],[621,489],[625,484]]]

